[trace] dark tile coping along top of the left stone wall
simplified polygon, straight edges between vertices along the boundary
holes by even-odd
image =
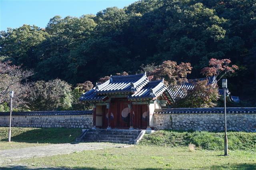
[[[55,116],[55,115],[87,115],[92,110],[82,111],[35,111],[35,112],[12,112],[12,116]],[[0,112],[0,116],[9,116],[9,112]]]

